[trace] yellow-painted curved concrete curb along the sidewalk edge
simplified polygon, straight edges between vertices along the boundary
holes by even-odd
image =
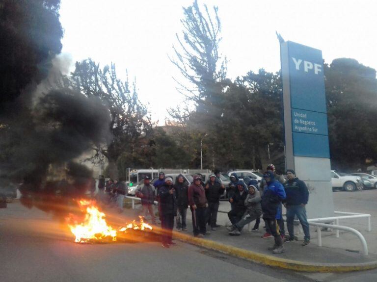
[[[279,267],[283,269],[289,269],[302,272],[350,272],[361,271],[377,268],[377,261],[366,263],[308,263],[304,261],[297,261],[285,258],[279,258],[276,256],[269,256],[252,251],[243,250],[237,247],[224,245],[215,241],[206,240],[202,238],[196,238],[187,234],[173,231],[175,239],[204,247],[206,249],[214,250],[220,253],[224,253],[230,256],[235,256],[243,259],[247,259],[256,263],[265,264],[268,266]]]

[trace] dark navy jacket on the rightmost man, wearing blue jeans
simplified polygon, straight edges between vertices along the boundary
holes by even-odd
[[[309,200],[309,191],[304,181],[295,178],[284,183],[284,190],[287,198],[283,201],[287,205],[307,204]]]

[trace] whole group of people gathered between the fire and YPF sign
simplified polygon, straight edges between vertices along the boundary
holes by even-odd
[[[281,254],[285,251],[283,242],[297,240],[294,235],[296,217],[305,234],[302,245],[306,246],[310,243],[305,210],[309,192],[305,182],[296,177],[294,170],[287,170],[285,179],[277,175],[275,166],[270,164],[260,183],[255,179],[240,180],[234,173],[227,187],[224,187],[219,175],[216,174],[211,174],[206,183],[202,179],[202,176],[197,174],[193,177],[193,182],[188,184],[185,177],[180,174],[173,183],[171,177],[165,178],[164,173],[161,172],[154,185],[147,176],[143,180],[144,185],[137,188],[136,196],[141,199],[143,214],[145,217],[149,214],[153,224],[157,223],[154,202],[158,201],[164,248],[175,245],[172,241],[174,219],[178,231],[188,231],[186,224],[188,208],[191,210],[195,237],[204,237],[211,231],[216,231],[219,227],[217,225],[219,200],[225,188],[231,205],[231,210],[228,212],[231,225],[226,227],[229,235],[240,235],[243,227],[252,221],[255,221],[252,231],[258,231],[262,217],[266,228],[262,238],[273,237],[274,244],[269,250],[274,254]],[[105,189],[110,197],[117,195],[119,208],[123,209],[124,195],[127,195],[127,185],[124,181],[110,180],[108,183],[102,183],[100,179],[99,188]],[[282,205],[287,209],[288,236],[285,236]],[[207,224],[210,230],[207,230]]]

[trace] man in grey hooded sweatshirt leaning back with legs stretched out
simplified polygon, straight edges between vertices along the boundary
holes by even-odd
[[[261,195],[258,191],[257,184],[250,183],[249,184],[249,191],[247,197],[245,199],[244,205],[246,206],[246,212],[242,215],[242,218],[239,222],[234,224],[233,226],[227,228],[230,230],[229,235],[240,235],[242,228],[261,217],[262,215],[262,206],[261,206]]]

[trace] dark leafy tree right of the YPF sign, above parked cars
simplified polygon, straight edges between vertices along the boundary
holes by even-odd
[[[377,162],[376,70],[339,58],[324,65],[324,75],[332,166],[365,169],[367,158]]]

